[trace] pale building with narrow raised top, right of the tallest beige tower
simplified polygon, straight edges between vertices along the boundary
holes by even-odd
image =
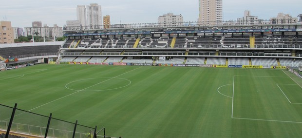
[[[237,18],[236,24],[242,24],[242,25],[259,24],[259,19],[258,16],[251,16],[249,10],[245,10],[244,17]]]

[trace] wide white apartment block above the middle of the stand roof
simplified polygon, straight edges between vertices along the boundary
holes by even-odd
[[[160,26],[180,26],[183,25],[184,22],[182,15],[174,15],[173,13],[159,16],[157,20]]]

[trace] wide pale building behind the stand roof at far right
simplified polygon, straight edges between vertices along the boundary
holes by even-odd
[[[289,14],[279,13],[277,17],[270,18],[271,24],[297,23],[298,18],[293,18]]]

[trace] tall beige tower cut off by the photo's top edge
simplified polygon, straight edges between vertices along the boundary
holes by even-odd
[[[222,0],[199,0],[199,25],[222,25]]]

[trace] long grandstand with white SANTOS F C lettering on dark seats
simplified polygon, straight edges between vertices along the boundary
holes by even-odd
[[[108,29],[89,27],[64,27],[67,39],[63,43],[48,44],[51,46],[40,49],[32,46],[27,54],[10,52],[11,46],[1,50],[10,54],[0,54],[3,59],[10,56],[30,60],[31,55],[44,56],[47,59],[35,59],[35,62],[64,64],[298,68],[302,63],[300,22],[209,26],[184,22],[179,26],[142,23],[111,25]],[[24,52],[21,46],[18,48],[14,51]],[[13,63],[20,62],[22,60]],[[8,66],[15,65],[13,63]]]

